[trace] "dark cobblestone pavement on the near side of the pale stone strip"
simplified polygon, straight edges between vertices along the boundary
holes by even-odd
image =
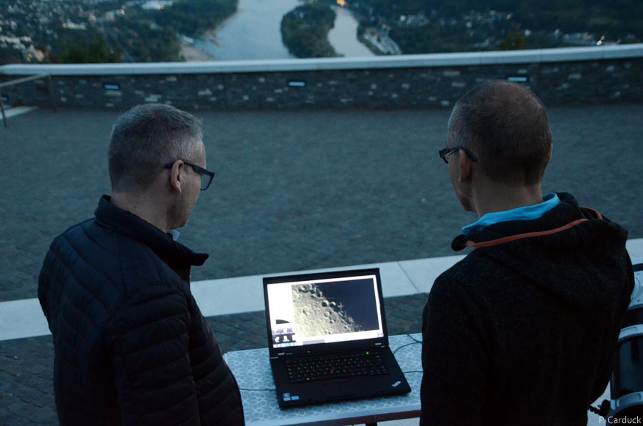
[[[389,334],[421,332],[426,301],[427,294],[385,299]],[[266,347],[263,311],[209,317],[208,322],[224,352]],[[0,342],[1,426],[58,425],[53,365],[51,336]]]

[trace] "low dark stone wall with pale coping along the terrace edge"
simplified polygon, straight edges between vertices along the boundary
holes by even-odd
[[[643,101],[643,44],[374,59],[173,64],[9,65],[0,79],[49,73],[59,106],[126,109],[341,109],[452,106],[488,79],[529,86],[548,106]],[[15,104],[51,105],[46,79],[4,88]]]

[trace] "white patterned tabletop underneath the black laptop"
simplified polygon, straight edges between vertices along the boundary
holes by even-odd
[[[422,340],[421,334],[411,336]],[[383,422],[419,417],[422,345],[415,343],[412,337],[409,335],[389,337],[391,350],[395,351],[399,348],[395,352],[395,358],[411,386],[410,393],[294,407],[286,410],[282,410],[277,405],[267,348],[228,352],[224,355],[224,359],[239,383],[247,425],[356,425]],[[413,345],[402,347],[409,343]]]

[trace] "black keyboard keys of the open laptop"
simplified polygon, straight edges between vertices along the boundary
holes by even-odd
[[[369,352],[294,358],[286,360],[286,371],[291,383],[388,374],[382,357]]]

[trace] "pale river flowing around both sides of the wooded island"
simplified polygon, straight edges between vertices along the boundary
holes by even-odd
[[[294,58],[281,41],[280,26],[281,18],[299,4],[299,0],[239,0],[236,14],[210,36],[195,39],[194,47],[228,61]],[[337,7],[329,41],[344,56],[373,55],[357,39],[357,21],[342,7]]]

